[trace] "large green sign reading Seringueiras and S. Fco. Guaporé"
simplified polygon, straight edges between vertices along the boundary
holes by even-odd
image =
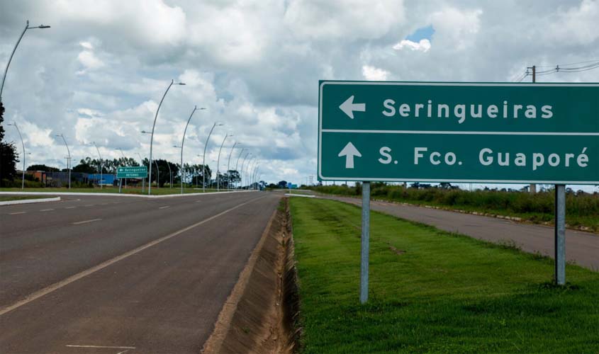
[[[599,84],[320,81],[322,181],[599,183]]]

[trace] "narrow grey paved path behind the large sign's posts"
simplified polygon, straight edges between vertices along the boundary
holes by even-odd
[[[320,197],[362,205],[362,200],[345,197]],[[554,258],[554,228],[522,224],[495,217],[463,214],[390,202],[371,200],[371,209],[422,224],[429,224],[447,232],[465,234],[475,239],[495,243],[513,242],[523,251],[542,253]],[[599,235],[566,230],[566,260],[599,271]],[[567,277],[567,274],[566,274]]]

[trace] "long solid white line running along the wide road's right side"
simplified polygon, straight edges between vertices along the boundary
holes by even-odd
[[[242,202],[241,204],[235,205],[235,207],[232,207],[228,210],[225,210],[224,212],[219,212],[216,215],[213,215],[211,217],[208,217],[208,219],[203,219],[201,222],[196,222],[195,224],[189,225],[188,227],[184,227],[183,229],[180,229],[179,231],[173,232],[172,234],[168,234],[167,236],[162,236],[158,239],[155,239],[154,241],[150,241],[145,245],[139,246],[137,249],[132,249],[131,251],[125,252],[123,254],[121,254],[121,256],[116,256],[115,258],[111,258],[108,261],[104,261],[102,263],[100,263],[99,265],[95,265],[94,267],[91,267],[87,270],[84,270],[80,273],[77,273],[75,275],[71,275],[69,278],[66,278],[64,280],[60,280],[60,282],[55,282],[52,285],[49,285],[47,287],[44,287],[41,290],[38,290],[36,292],[31,293],[30,295],[27,295],[25,297],[25,299],[19,300],[18,302],[15,302],[14,304],[11,304],[7,307],[4,307],[2,309],[0,309],[0,316],[2,316],[3,314],[6,314],[6,312],[11,312],[13,309],[18,309],[19,307],[28,304],[30,302],[32,302],[35,299],[39,299],[40,297],[43,297],[44,295],[50,294],[50,292],[54,292],[55,290],[60,289],[61,287],[65,287],[66,285],[69,285],[70,283],[77,281],[81,278],[86,277],[87,275],[96,273],[98,270],[102,270],[103,268],[108,267],[108,265],[112,265],[118,261],[122,261],[125,258],[128,258],[130,256],[133,256],[135,253],[140,253],[141,251],[145,250],[145,249],[149,249],[152,246],[155,246],[161,242],[167,241],[168,239],[172,239],[174,236],[177,236],[179,234],[182,234],[186,231],[189,231],[191,229],[194,229],[194,227],[198,227],[201,224],[206,224],[206,222],[209,222],[213,219],[216,219],[217,217],[220,217],[221,215],[225,215],[228,212],[232,212],[233,210],[242,207],[246,204],[249,204],[250,202],[255,202],[256,200],[260,200],[262,198],[267,198],[267,195],[264,195],[262,197],[258,197],[258,198],[254,198],[252,200],[248,200],[247,202]]]

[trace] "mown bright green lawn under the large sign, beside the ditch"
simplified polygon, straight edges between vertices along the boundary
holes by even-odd
[[[361,305],[359,208],[290,203],[301,353],[599,353],[599,273],[373,212]]]

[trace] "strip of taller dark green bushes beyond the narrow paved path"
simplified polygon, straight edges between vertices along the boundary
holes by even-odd
[[[362,195],[362,186],[320,185],[310,189],[323,194],[355,197]],[[490,215],[520,217],[534,223],[554,221],[555,196],[553,190],[526,193],[500,190],[460,190],[444,188],[404,188],[401,185],[372,183],[371,197],[390,202],[413,205],[431,205],[448,210],[481,212]],[[569,227],[587,227],[599,232],[599,194],[568,193],[566,195],[566,223]]]

